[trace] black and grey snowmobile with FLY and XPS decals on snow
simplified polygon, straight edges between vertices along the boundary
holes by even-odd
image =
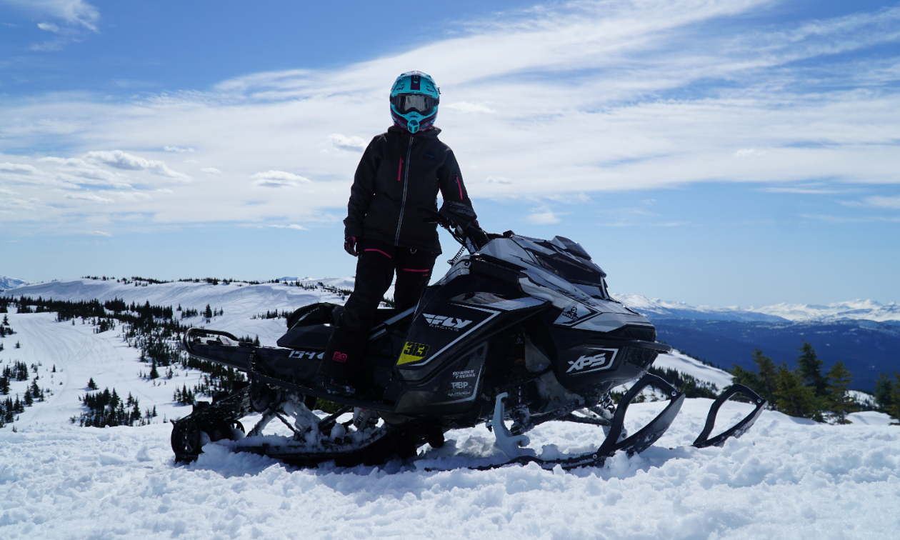
[[[662,437],[684,394],[647,370],[671,347],[656,341],[649,320],[609,296],[606,274],[579,244],[512,231],[485,235],[473,224],[471,210],[452,203],[433,213],[430,219],[451,230],[464,248],[415,309],[379,310],[358,366],[370,381],[366,392],[335,395],[311,383],[343,310],[337,304],[294,311],[278,347],[255,347],[216,330],[188,330],[188,353],[246,373],[247,383],[211,403],[196,402],[192,414],[174,422],[176,461],[195,459],[208,437],[236,452],[291,464],[381,464],[416,455],[426,443],[443,446],[447,431],[484,422],[509,456],[502,464],[570,469],[603,464],[620,450],[641,452]],[[625,383],[633,384],[615,405],[610,391]],[[669,402],[629,436],[626,410],[648,387]],[[709,437],[719,407],[737,393],[754,410]],[[324,418],[314,414],[318,399],[339,409]],[[765,405],[749,388],[732,385],[713,403],[694,446],[721,446],[728,437],[740,437]],[[245,436],[239,419],[252,412],[262,418]],[[273,419],[293,437],[264,436]],[[606,438],[593,452],[542,460],[525,447],[526,434],[551,420],[595,425]]]

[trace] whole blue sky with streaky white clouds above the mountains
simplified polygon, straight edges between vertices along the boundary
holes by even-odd
[[[0,0],[0,275],[352,275],[421,69],[486,229],[621,293],[897,302],[898,40],[896,2]]]

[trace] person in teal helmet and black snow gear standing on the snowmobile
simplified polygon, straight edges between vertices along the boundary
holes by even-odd
[[[354,367],[394,273],[400,311],[415,306],[428,286],[441,245],[437,225],[423,222],[419,209],[437,211],[438,191],[445,202],[472,209],[453,150],[437,139],[439,101],[431,76],[410,71],[397,77],[391,88],[394,125],[372,139],[356,167],[344,220],[344,249],[357,257],[356,287],[320,365],[319,383],[329,391],[365,386]]]

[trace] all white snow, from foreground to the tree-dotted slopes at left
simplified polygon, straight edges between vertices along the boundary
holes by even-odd
[[[76,280],[31,285],[22,293],[195,309],[210,303],[225,310],[210,327],[258,333],[264,343],[284,332],[284,320],[250,315],[339,300],[283,284],[135,287]],[[603,467],[571,473],[533,464],[487,472],[464,468],[503,459],[483,427],[456,430],[444,448],[426,446],[417,458],[383,467],[295,469],[217,444],[205,446],[196,463],[176,465],[171,425],[162,419],[189,412],[172,402],[172,393],[175,385],[195,383],[197,372],[142,380],[137,374],[147,365],[116,329],[94,334],[80,320],[58,323],[51,313],[8,318],[17,333],[3,339],[0,365],[40,363],[39,383],[53,394],[20,415],[17,433],[0,429],[3,539],[900,537],[900,427],[877,412],[852,414],[849,426],[829,426],[765,411],[741,439],[698,450],[689,444],[711,401],[687,400],[672,428],[642,455],[616,455]],[[719,388],[730,382],[725,372],[677,351],[656,365]],[[68,418],[83,411],[78,396],[91,377],[101,389],[131,393],[141,410],[156,405],[155,423],[103,429],[70,424]],[[26,384],[13,383],[13,393]],[[628,425],[634,430],[663,406],[633,404]],[[726,403],[723,427],[748,410]],[[244,425],[253,422],[247,418]],[[561,423],[529,436],[544,457],[580,454],[602,439],[597,428]]]

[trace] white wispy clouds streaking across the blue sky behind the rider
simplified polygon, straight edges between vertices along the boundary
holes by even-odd
[[[109,208],[112,220],[112,209],[125,205],[165,223],[305,223],[298,216],[346,208],[359,152],[388,122],[385,89],[415,66],[442,87],[437,124],[476,208],[483,198],[564,202],[707,181],[804,194],[834,189],[805,184],[817,178],[845,185],[898,182],[900,91],[890,81],[900,76],[900,62],[880,54],[849,62],[837,53],[896,43],[900,8],[748,25],[771,4],[548,4],[334,69],[257,73],[211,91],[143,94],[128,103],[76,95],[0,103],[0,140],[29,148],[22,156],[2,156],[0,163],[19,168],[0,167],[0,177],[24,201],[64,199],[45,194],[47,186],[155,193],[132,201],[98,195],[115,199],[114,205],[83,201],[91,211]],[[60,28],[88,28],[71,21],[91,20],[53,17]],[[810,66],[817,76],[809,76]],[[176,141],[196,148],[189,152],[192,163],[171,160],[172,152],[191,149],[172,146],[174,132]],[[50,141],[73,149],[54,158],[58,162],[31,157]],[[189,184],[192,177],[197,181]],[[262,189],[301,184],[303,190]],[[865,203],[891,208],[890,202]],[[669,223],[648,208],[637,209],[648,212],[640,220],[615,213],[605,219]],[[560,215],[546,209],[527,219],[549,223]],[[16,219],[0,222],[16,227]],[[70,228],[69,219],[76,218],[45,222]]]

